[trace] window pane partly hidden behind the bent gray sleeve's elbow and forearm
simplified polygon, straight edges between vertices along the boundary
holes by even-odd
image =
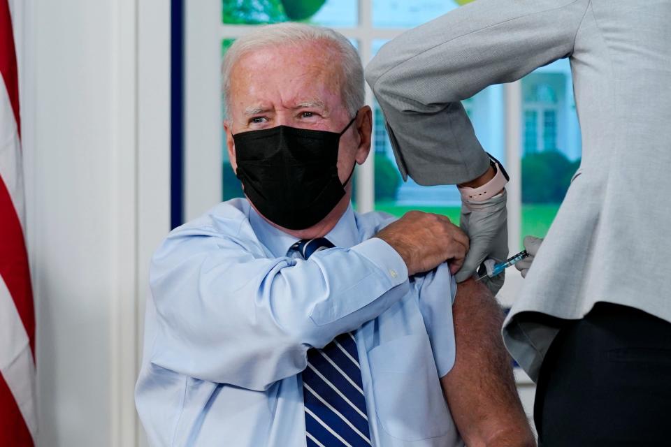
[[[373,54],[385,41],[373,41]],[[503,88],[493,85],[463,101],[477,138],[502,163],[505,163],[505,129],[503,120]],[[384,116],[377,101],[373,103],[375,138],[375,209],[396,216],[419,209],[446,214],[459,222],[461,196],[454,185],[420,186],[412,179],[401,180],[394,152],[384,126]]]

